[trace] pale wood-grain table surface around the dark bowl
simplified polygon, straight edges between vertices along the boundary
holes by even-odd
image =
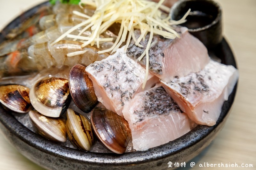
[[[256,169],[256,0],[218,0],[223,7],[224,36],[240,71],[232,112],[212,143],[191,161],[199,164],[252,164]],[[27,9],[44,0],[0,0],[0,29]],[[190,162],[191,162],[190,161]],[[187,162],[186,169],[189,167]],[[43,169],[22,156],[0,132],[0,169]],[[183,168],[181,168],[183,169]],[[233,169],[215,167],[214,169]]]

